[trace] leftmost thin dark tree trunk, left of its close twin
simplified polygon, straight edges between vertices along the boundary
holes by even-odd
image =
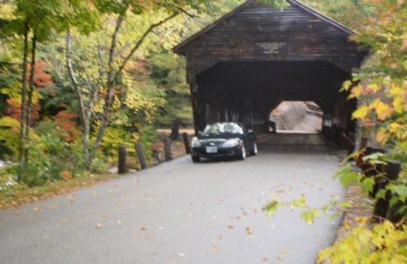
[[[28,23],[25,22],[24,30],[24,51],[22,58],[22,84],[21,84],[21,115],[20,115],[20,132],[19,132],[19,146],[18,146],[18,161],[20,164],[20,170],[22,169],[22,161],[24,154],[24,127],[25,127],[25,112],[26,112],[26,93],[27,93],[27,57],[28,57]],[[17,180],[21,180],[21,172],[17,174]]]

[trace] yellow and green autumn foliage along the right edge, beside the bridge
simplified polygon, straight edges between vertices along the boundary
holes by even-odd
[[[356,3],[356,2],[355,2]],[[372,144],[385,147],[386,154],[373,153],[363,157],[370,164],[386,164],[396,159],[401,172],[396,180],[388,180],[385,189],[376,193],[375,200],[391,194],[390,208],[398,203],[402,219],[398,223],[384,221],[372,227],[361,223],[345,239],[324,250],[319,259],[332,263],[405,263],[407,262],[407,2],[364,1],[360,9],[364,19],[355,19],[359,29],[353,40],[370,47],[372,54],[365,65],[354,74],[352,86],[345,82],[343,90],[358,98],[360,107],[353,117],[358,119],[364,135]],[[369,16],[366,16],[369,14]],[[357,157],[360,153],[354,155]],[[346,184],[360,183],[364,192],[372,190],[375,178],[386,175],[377,172],[374,177],[361,177],[345,164],[338,173]]]

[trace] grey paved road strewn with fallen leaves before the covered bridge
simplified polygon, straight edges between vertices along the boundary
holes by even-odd
[[[189,157],[0,213],[0,263],[313,263],[339,219],[261,212],[271,194],[311,206],[343,191],[324,151],[273,151],[246,161]],[[38,209],[40,209],[39,212]]]

